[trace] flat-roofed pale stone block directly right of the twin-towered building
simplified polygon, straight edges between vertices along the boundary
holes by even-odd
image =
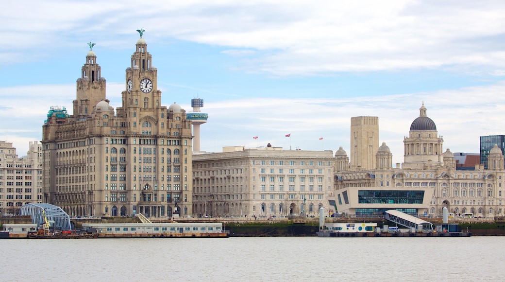
[[[197,216],[317,216],[333,191],[333,152],[225,147],[193,155]]]

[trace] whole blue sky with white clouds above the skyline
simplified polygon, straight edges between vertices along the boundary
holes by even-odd
[[[191,99],[204,100],[202,151],[270,143],[342,147],[349,155],[350,118],[377,116],[379,145],[401,163],[423,103],[444,151],[479,153],[480,136],[505,134],[502,1],[18,0],[2,7],[0,140],[19,156],[42,138],[49,107],[72,114],[88,42],[96,43],[111,106],[121,106],[141,28],[162,105],[190,112]]]

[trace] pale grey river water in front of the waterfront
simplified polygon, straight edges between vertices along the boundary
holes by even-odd
[[[2,281],[503,281],[505,237],[0,240]]]

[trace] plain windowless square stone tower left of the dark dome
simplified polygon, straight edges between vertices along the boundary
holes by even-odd
[[[350,138],[350,166],[374,169],[374,154],[379,149],[379,117],[351,117]]]

